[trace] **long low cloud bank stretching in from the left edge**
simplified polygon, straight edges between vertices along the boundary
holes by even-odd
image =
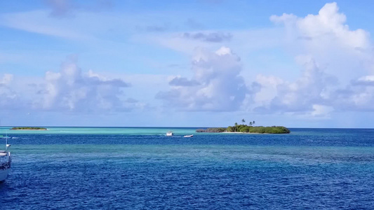
[[[47,71],[44,78],[22,78],[8,73],[0,76],[0,108],[27,112],[115,113],[147,107],[126,94],[128,87],[131,85],[123,79],[107,78],[92,70],[82,71],[74,57],[69,57],[60,71]]]

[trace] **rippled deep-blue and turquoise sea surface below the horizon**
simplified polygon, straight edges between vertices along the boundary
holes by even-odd
[[[195,130],[0,127],[0,209],[374,209],[373,129]]]

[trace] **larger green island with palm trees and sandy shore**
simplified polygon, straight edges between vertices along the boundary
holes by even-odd
[[[240,133],[257,133],[257,134],[289,134],[290,130],[287,127],[283,126],[253,126],[255,121],[250,122],[249,125],[244,125],[246,120],[241,120],[242,125],[235,123],[234,126],[225,127],[210,127],[207,129],[198,129],[196,132],[240,132]]]

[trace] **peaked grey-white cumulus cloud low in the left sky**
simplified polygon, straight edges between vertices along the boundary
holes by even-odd
[[[93,71],[83,72],[69,58],[59,72],[46,72],[41,100],[34,107],[55,111],[128,111],[142,104],[124,98],[123,88],[130,84],[109,79]]]

